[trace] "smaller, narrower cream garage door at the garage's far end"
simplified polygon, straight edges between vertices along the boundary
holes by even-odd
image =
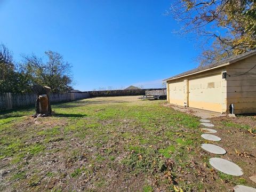
[[[169,100],[175,105],[184,106],[184,82],[177,81],[169,84]]]

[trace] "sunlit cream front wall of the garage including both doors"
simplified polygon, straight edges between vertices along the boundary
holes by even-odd
[[[225,113],[227,81],[222,79],[225,67],[167,81],[169,103]]]

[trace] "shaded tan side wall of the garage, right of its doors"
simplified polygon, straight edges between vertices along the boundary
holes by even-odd
[[[256,55],[253,55],[227,66],[227,106],[233,103],[235,114],[256,113],[255,65]]]

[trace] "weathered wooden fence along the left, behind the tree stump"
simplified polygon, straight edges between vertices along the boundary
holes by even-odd
[[[51,103],[74,101],[77,99],[89,98],[90,94],[82,93],[52,93],[50,94]],[[0,111],[15,109],[19,107],[33,106],[36,102],[34,93],[0,93]]]

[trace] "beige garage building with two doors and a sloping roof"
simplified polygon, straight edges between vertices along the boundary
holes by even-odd
[[[256,50],[165,79],[167,101],[234,114],[256,113]],[[232,105],[233,104],[233,105]]]

